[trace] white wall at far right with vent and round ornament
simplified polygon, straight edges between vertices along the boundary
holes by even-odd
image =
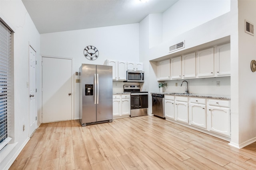
[[[256,35],[245,33],[244,20],[256,27],[256,1],[238,1],[238,109],[239,144],[256,141],[256,72],[250,69],[250,62],[256,60]]]

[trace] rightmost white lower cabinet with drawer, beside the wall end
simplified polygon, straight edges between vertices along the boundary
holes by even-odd
[[[230,137],[230,102],[208,100],[207,130]]]

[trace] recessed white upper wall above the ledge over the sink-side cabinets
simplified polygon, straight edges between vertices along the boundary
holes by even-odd
[[[168,41],[229,11],[230,0],[179,0],[163,13],[163,41]]]

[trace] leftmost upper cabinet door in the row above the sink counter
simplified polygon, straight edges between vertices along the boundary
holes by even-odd
[[[170,80],[170,59],[159,61],[159,80]]]

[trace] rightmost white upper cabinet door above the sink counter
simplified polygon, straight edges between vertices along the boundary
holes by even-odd
[[[218,45],[216,48],[215,75],[230,75],[230,43]]]

